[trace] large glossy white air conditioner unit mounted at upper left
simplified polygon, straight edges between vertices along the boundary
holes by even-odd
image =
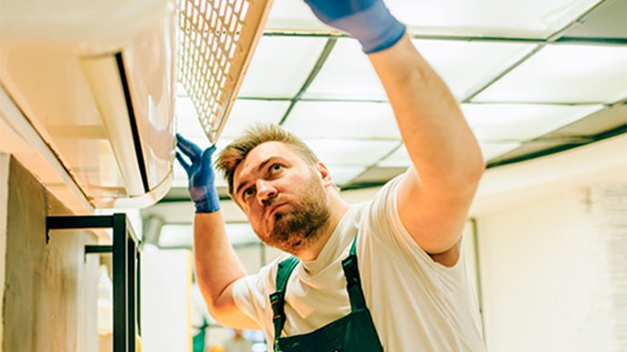
[[[2,0],[1,7],[0,131],[26,140],[30,126],[50,151],[35,149],[65,169],[92,207],[161,199],[174,162],[174,1]],[[52,188],[58,182],[50,168],[34,172]]]

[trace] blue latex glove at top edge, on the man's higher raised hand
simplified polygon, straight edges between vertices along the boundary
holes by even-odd
[[[365,54],[387,49],[405,33],[405,25],[383,0],[304,0],[323,23],[353,35]]]

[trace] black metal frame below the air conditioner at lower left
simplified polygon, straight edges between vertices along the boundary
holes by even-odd
[[[140,324],[140,241],[126,214],[47,217],[46,243],[50,230],[113,229],[113,245],[85,246],[85,255],[113,252],[114,261],[114,352],[134,352]]]

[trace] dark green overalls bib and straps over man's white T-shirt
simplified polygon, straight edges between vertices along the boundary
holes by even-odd
[[[298,264],[295,257],[279,263],[276,273],[276,292],[270,295],[274,312],[274,351],[275,352],[381,352],[383,347],[374,328],[370,310],[366,308],[357,256],[353,240],[348,258],[343,259],[342,267],[346,277],[346,289],[351,300],[351,313],[313,332],[280,337],[285,325],[285,286],[287,279]]]

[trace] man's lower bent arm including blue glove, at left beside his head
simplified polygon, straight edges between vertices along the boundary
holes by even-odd
[[[242,313],[233,298],[232,285],[245,275],[242,264],[226,237],[224,218],[215,190],[212,146],[202,151],[193,142],[176,135],[179,152],[176,159],[189,177],[189,191],[196,214],[194,216],[194,266],[198,287],[211,316],[231,328],[258,329],[258,325]]]

